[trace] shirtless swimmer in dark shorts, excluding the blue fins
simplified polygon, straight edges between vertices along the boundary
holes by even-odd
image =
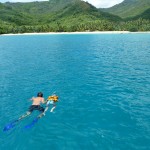
[[[41,112],[41,114],[38,116],[38,118],[41,118],[44,115],[44,108],[40,106],[41,103],[45,103],[45,100],[43,98],[43,93],[39,92],[37,94],[37,97],[32,97],[31,100],[33,101],[32,105],[29,107],[26,114],[22,115],[18,120],[21,120],[27,116],[29,116],[34,110],[38,110]]]

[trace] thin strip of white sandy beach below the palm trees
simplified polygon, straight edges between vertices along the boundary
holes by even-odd
[[[11,35],[47,35],[47,34],[150,34],[149,32],[129,32],[129,31],[93,31],[93,32],[42,32],[42,33],[18,33],[18,34],[1,34],[0,36]]]

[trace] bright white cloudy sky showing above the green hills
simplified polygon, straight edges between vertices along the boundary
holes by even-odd
[[[46,0],[0,0],[0,2],[31,2],[31,1],[46,1]],[[107,8],[115,4],[121,3],[123,0],[84,0],[88,1],[97,8]]]

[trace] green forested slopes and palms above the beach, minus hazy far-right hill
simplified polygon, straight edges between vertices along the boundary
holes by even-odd
[[[150,31],[150,18],[142,14],[123,20],[81,0],[0,3],[0,34],[75,31]]]

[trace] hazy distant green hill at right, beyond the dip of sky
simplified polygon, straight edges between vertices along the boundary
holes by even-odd
[[[124,0],[111,8],[101,9],[122,18],[131,18],[142,14],[150,8],[150,0]]]

